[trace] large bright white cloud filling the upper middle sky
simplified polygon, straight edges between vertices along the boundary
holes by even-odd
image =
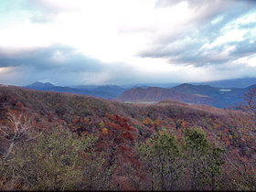
[[[230,59],[230,54],[238,49],[236,44],[230,43],[247,39],[254,42],[255,38],[252,33],[256,27],[240,27],[251,25],[256,20],[255,14],[238,15],[238,19],[223,15],[225,10],[240,5],[232,0],[225,3],[222,0],[212,3],[173,1],[171,5],[165,0],[27,2],[29,7],[23,10],[27,14],[22,15],[23,19],[17,19],[18,23],[10,21],[8,25],[1,26],[3,21],[0,19],[2,53],[11,57],[25,49],[66,45],[86,57],[101,61],[106,69],[120,68],[119,73],[131,69],[136,80],[160,82],[221,78],[214,73],[215,67],[210,65]],[[217,35],[211,34],[209,26],[219,27],[220,31],[215,32]],[[154,57],[141,57],[145,50],[151,50],[149,55]],[[59,63],[69,59],[66,52],[57,51],[51,56]],[[181,60],[179,63],[176,62],[178,59]],[[197,61],[199,64],[195,64]],[[249,60],[244,62],[250,63]],[[116,63],[125,63],[126,67]],[[204,63],[208,66],[203,67]],[[85,75],[79,77],[80,81],[97,84],[121,81],[122,77],[113,77],[118,72],[112,71],[84,71]],[[91,79],[93,76],[94,80]]]

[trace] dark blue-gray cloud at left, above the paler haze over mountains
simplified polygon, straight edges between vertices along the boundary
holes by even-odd
[[[54,45],[7,54],[0,51],[0,67],[29,67],[36,70],[95,71],[101,62],[86,58],[74,48]]]

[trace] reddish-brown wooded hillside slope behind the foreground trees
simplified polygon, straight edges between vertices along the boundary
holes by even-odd
[[[130,138],[135,142],[147,141],[155,133],[166,130],[168,133],[174,133],[177,140],[182,143],[185,130],[201,127],[207,133],[210,143],[225,149],[229,161],[237,165],[237,168],[243,168],[243,165],[253,160],[252,154],[248,153],[245,143],[239,136],[242,133],[246,144],[255,147],[248,132],[253,128],[248,116],[241,112],[206,105],[170,100],[155,104],[123,103],[85,95],[0,86],[0,127],[5,125],[10,113],[27,115],[31,120],[32,129],[40,132],[60,127],[79,135],[101,136],[114,127],[122,129],[129,124],[133,129]],[[121,121],[119,123],[122,126],[112,123],[114,118]],[[5,138],[1,137],[0,157],[5,151],[5,144]],[[100,150],[104,150],[105,145],[99,147]],[[125,145],[123,149],[134,151],[135,144]],[[228,159],[225,161],[228,162]],[[236,176],[240,179],[239,173],[227,163],[223,179],[233,180],[237,179]],[[248,173],[248,176],[252,176],[251,173]],[[232,188],[233,184],[229,187]]]

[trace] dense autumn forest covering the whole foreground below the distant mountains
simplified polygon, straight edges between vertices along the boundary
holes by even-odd
[[[0,86],[1,190],[256,190],[256,89],[232,109]]]

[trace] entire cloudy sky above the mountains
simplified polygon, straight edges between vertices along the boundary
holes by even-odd
[[[256,0],[0,0],[0,83],[256,77]]]

